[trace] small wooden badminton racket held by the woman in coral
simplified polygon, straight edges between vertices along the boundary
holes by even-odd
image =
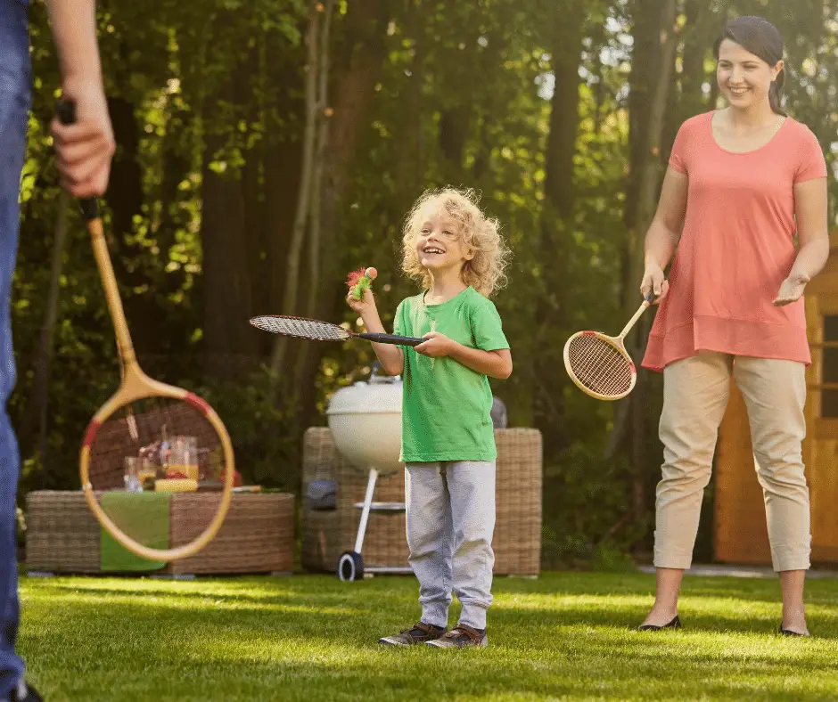
[[[619,400],[637,383],[637,369],[624,339],[654,300],[650,292],[616,337],[600,331],[578,331],[564,345],[564,367],[571,380],[597,400]]]

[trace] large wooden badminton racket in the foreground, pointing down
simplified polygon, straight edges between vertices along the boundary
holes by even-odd
[[[73,124],[75,104],[59,102],[58,118]],[[87,426],[79,454],[81,488],[95,518],[127,551],[162,563],[185,559],[218,534],[226,517],[233,494],[233,447],[206,401],[184,388],[152,380],[140,368],[98,202],[87,198],[79,204],[102,277],[121,369],[119,389]],[[211,492],[177,494],[196,492],[199,485]],[[176,513],[188,519],[173,518]]]

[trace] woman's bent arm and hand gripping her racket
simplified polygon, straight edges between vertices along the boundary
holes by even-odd
[[[669,289],[669,283],[663,278],[663,269],[670,263],[681,236],[688,185],[686,174],[671,166],[667,168],[661,199],[644,241],[645,273],[640,283],[640,294],[644,297],[653,291],[660,301]]]

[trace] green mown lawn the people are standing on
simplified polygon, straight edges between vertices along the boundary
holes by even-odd
[[[686,578],[685,630],[632,632],[652,588],[498,578],[489,648],[452,651],[376,644],[417,616],[408,577],[22,578],[20,648],[48,702],[838,699],[838,580],[809,581],[809,641],[773,633],[775,580],[732,577]]]

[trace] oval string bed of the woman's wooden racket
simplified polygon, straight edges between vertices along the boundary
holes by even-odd
[[[593,334],[571,339],[568,361],[576,379],[598,395],[621,396],[631,389],[631,362],[605,339]]]

